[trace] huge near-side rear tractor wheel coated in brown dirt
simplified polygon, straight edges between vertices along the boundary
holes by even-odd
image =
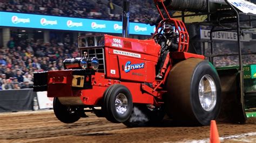
[[[183,125],[209,125],[220,111],[220,80],[205,60],[190,58],[177,63],[166,82],[166,113]]]

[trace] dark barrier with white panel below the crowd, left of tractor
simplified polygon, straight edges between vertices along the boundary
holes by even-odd
[[[33,92],[33,89],[0,90],[0,112],[31,111],[51,109],[53,98],[47,92]]]

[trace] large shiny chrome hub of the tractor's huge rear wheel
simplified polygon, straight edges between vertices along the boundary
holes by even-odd
[[[210,75],[204,75],[199,83],[199,100],[205,111],[214,109],[217,101],[217,90],[215,82]]]

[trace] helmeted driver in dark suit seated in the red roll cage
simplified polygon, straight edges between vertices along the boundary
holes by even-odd
[[[160,50],[160,58],[158,59],[157,69],[158,74],[157,77],[161,78],[161,68],[164,66],[164,61],[169,52],[175,52],[178,49],[178,33],[174,32],[174,28],[171,24],[165,24],[163,26],[163,35],[166,38],[165,40],[160,41],[161,50]]]

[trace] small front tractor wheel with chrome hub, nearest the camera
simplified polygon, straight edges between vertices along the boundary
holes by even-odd
[[[132,107],[131,92],[124,85],[114,84],[104,92],[102,110],[106,119],[112,123],[129,119]]]

